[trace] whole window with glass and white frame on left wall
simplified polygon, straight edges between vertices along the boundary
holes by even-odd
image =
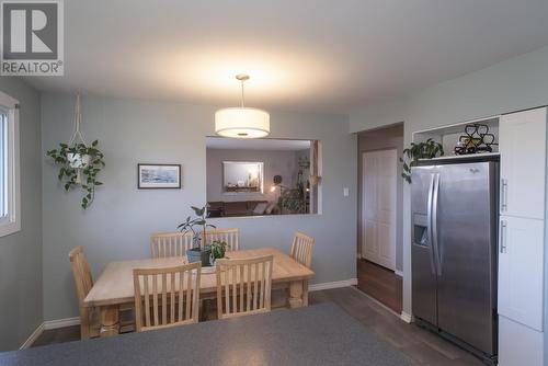
[[[21,230],[19,102],[0,92],[0,237]]]

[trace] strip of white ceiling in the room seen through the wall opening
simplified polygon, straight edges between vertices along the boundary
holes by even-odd
[[[299,151],[310,148],[309,140],[276,140],[269,138],[238,139],[206,137],[208,149]]]

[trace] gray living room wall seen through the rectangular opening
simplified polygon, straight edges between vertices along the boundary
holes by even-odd
[[[263,193],[226,194],[222,192],[222,161],[263,162]],[[207,201],[275,201],[278,191],[271,192],[273,178],[282,175],[282,184],[293,186],[299,165],[296,151],[207,149]]]

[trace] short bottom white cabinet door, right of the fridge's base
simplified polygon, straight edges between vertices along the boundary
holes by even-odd
[[[541,366],[544,333],[499,317],[499,365]]]

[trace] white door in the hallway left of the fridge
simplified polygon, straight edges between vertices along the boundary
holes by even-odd
[[[362,256],[396,270],[396,149],[362,155]]]

